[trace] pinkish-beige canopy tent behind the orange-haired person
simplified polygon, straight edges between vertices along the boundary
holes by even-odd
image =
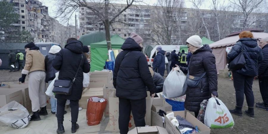
[[[268,33],[264,32],[252,32],[252,33],[255,39],[268,37]],[[220,69],[224,69],[226,66],[226,57],[227,57],[226,47],[233,46],[234,44],[236,44],[236,41],[238,40],[239,35],[236,34],[234,36],[224,38],[209,45],[210,48],[212,49],[212,53],[216,57],[216,67],[218,73]]]

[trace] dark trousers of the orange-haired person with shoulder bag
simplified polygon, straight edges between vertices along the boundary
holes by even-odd
[[[254,77],[245,76],[233,71],[233,86],[236,91],[236,106],[243,107],[244,94],[247,100],[247,106],[254,107],[254,95],[252,91]]]

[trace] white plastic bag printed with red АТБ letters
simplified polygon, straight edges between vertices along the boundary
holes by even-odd
[[[228,108],[216,97],[208,99],[204,123],[211,128],[233,128],[234,126],[233,117]]]

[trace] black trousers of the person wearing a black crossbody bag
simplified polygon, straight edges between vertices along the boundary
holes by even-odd
[[[58,123],[63,122],[64,118],[64,108],[65,108],[65,103],[67,99],[58,99],[57,98],[57,120]],[[77,118],[78,118],[78,111],[79,111],[79,105],[78,105],[79,100],[70,100],[70,107],[71,107],[71,122],[76,123]]]

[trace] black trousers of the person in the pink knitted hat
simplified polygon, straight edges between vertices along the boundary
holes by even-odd
[[[120,134],[127,134],[132,111],[136,127],[145,126],[146,98],[130,100],[119,98],[119,130]]]

